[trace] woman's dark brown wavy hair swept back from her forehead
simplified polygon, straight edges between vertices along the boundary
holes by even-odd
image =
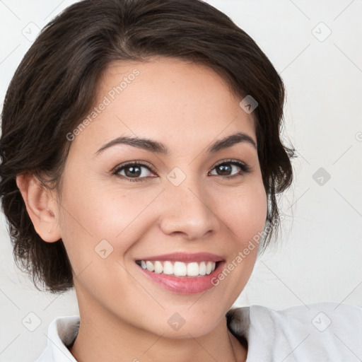
[[[276,233],[276,194],[291,185],[294,150],[279,138],[284,84],[257,44],[228,16],[199,0],[79,1],[46,25],[25,54],[1,115],[2,208],[16,264],[33,276],[36,287],[42,284],[53,293],[71,288],[71,264],[62,240],[46,243],[36,233],[16,175],[33,173],[45,187],[58,189],[71,144],[66,134],[91,109],[107,66],[153,56],[209,66],[240,100],[246,95],[257,100],[257,153],[268,198],[263,251]]]

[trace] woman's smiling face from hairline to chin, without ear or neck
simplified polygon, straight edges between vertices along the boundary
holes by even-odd
[[[240,100],[214,71],[179,59],[107,70],[94,113],[74,132],[58,210],[81,313],[175,338],[223,320],[250,277],[267,216],[255,120]],[[246,136],[219,144],[237,133]],[[182,255],[160,257],[173,253]],[[209,275],[173,276],[205,274],[213,260]]]

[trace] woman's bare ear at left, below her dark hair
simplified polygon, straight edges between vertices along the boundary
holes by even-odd
[[[37,234],[47,243],[54,243],[61,238],[57,199],[52,190],[44,187],[31,173],[16,176],[16,185],[24,199],[26,210]]]

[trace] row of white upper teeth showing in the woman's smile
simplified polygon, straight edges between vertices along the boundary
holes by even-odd
[[[173,274],[175,276],[199,276],[211,274],[216,267],[216,262],[150,262],[141,260],[141,267],[148,271],[154,271],[156,274]]]

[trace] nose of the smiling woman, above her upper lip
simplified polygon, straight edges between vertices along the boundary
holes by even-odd
[[[219,219],[208,190],[190,179],[166,187],[161,201],[160,228],[167,235],[181,234],[187,240],[197,240],[215,233]]]

